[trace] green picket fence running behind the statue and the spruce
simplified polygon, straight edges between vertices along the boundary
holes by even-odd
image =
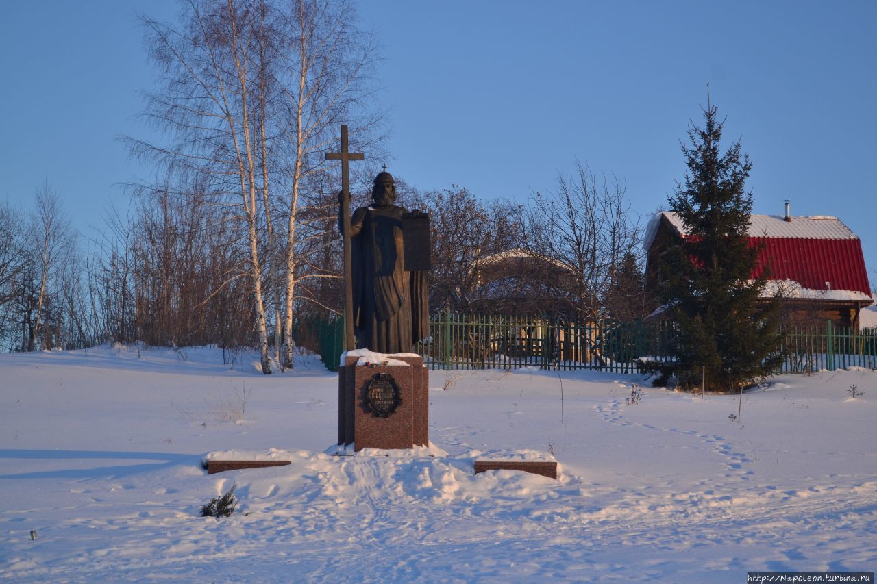
[[[342,318],[317,331],[326,367],[337,370],[343,351]],[[430,335],[415,351],[431,369],[592,369],[641,373],[646,361],[672,362],[675,331],[667,322],[474,315],[443,312],[430,318]],[[877,331],[855,331],[831,322],[784,331],[782,373],[877,368]],[[780,372],[778,372],[780,373]]]

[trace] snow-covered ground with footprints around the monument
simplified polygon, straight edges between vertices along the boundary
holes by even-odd
[[[230,370],[210,349],[0,355],[0,576],[742,582],[877,566],[873,371],[775,378],[739,421],[733,395],[625,404],[633,375],[431,372],[433,446],[350,457],[325,453],[336,379],[314,359]],[[208,476],[203,458],[231,450],[292,464]],[[554,456],[560,479],[473,474],[502,454]],[[232,484],[231,517],[199,516]]]

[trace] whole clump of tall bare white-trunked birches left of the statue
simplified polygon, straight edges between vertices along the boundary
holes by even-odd
[[[164,74],[146,117],[168,143],[130,141],[171,173],[203,174],[217,204],[239,209],[267,374],[268,315],[274,356],[291,367],[296,284],[326,275],[303,269],[316,235],[307,228],[313,214],[299,232],[299,211],[327,195],[307,185],[326,171],[324,152],[341,121],[360,147],[376,135],[379,117],[362,107],[371,98],[374,43],[353,26],[346,1],[188,0],[182,8],[179,26],[144,18]]]

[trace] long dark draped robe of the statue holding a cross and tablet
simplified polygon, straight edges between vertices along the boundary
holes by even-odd
[[[377,353],[410,353],[429,335],[425,271],[404,269],[402,218],[396,205],[353,212],[353,331],[357,348]],[[428,245],[428,244],[427,244]]]

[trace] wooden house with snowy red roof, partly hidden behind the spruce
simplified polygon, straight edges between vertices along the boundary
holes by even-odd
[[[873,303],[865,257],[855,233],[838,217],[752,215],[749,239],[759,246],[753,277],[766,272],[762,297],[780,296],[784,324],[824,326],[826,322],[858,330],[859,312]],[[674,238],[686,236],[681,218],[662,212],[649,222],[646,287],[654,289],[657,262]]]

